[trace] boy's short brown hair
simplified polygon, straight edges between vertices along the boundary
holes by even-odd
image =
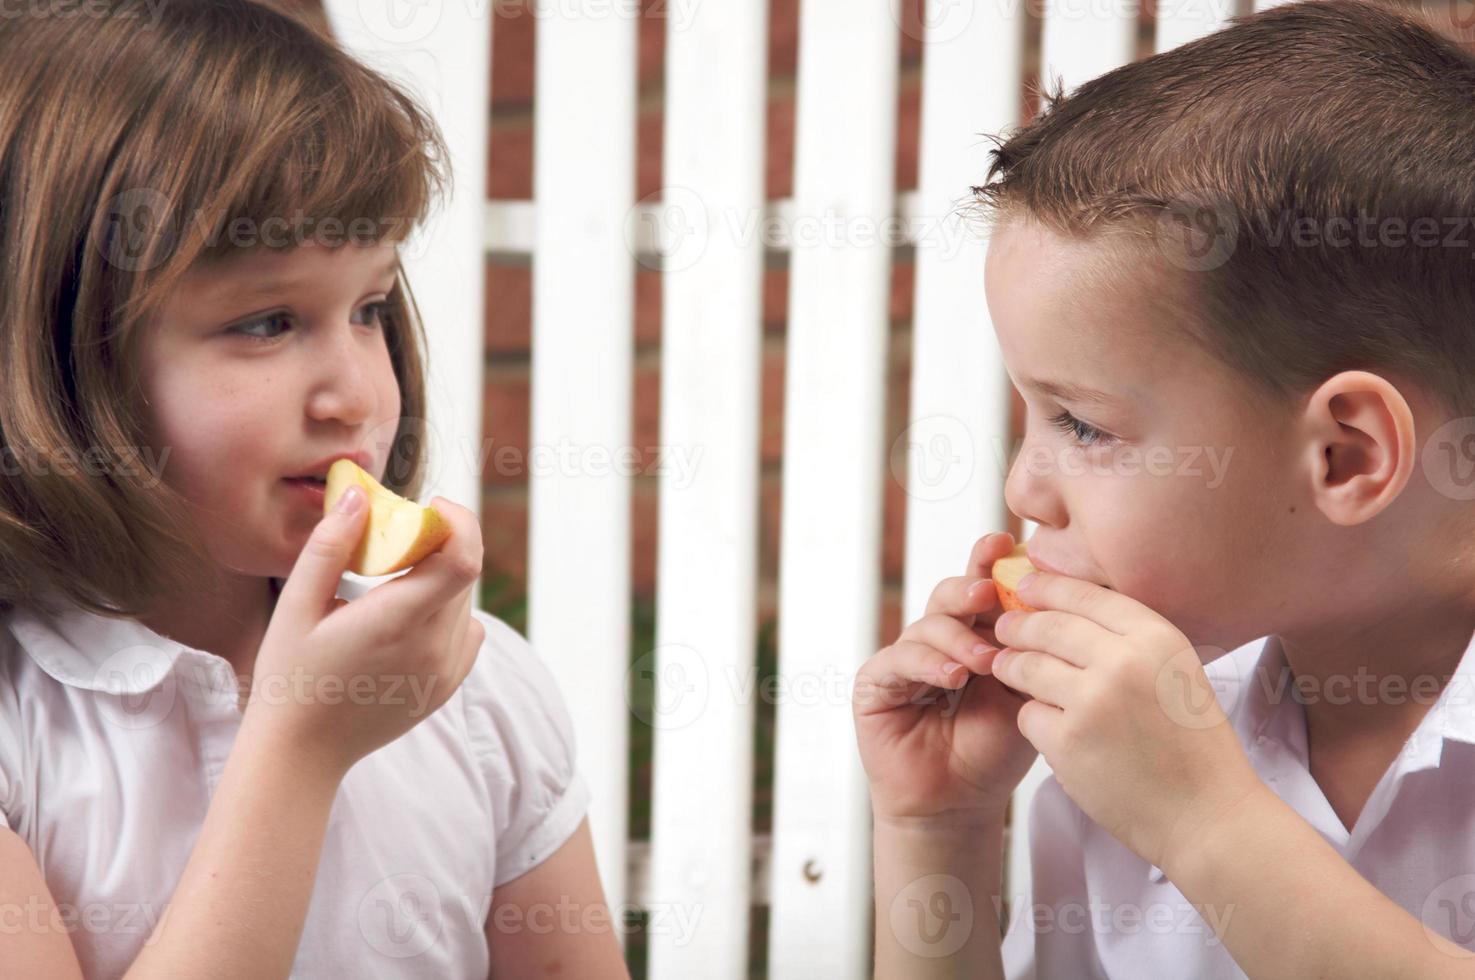
[[[1472,415],[1472,47],[1369,0],[1239,16],[1046,94],[991,137],[976,210],[1165,273],[1187,338],[1257,400],[1366,369]]]

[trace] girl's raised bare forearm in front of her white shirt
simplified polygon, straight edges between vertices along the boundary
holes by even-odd
[[[248,710],[184,874],[127,979],[286,977],[341,781]]]

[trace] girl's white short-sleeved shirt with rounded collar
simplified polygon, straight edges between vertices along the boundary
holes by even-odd
[[[366,587],[345,576],[338,595]],[[472,614],[487,639],[471,674],[339,785],[292,977],[487,977],[491,890],[584,816],[552,673],[510,626]],[[0,618],[0,818],[35,855],[90,980],[122,976],[164,914],[239,723],[221,657],[77,608]]]

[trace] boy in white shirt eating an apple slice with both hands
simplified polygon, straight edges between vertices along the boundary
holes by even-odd
[[[1475,976],[1475,56],[1292,3],[994,156],[1037,611],[988,536],[857,676],[876,976]]]

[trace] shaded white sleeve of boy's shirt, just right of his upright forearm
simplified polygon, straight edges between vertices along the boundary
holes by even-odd
[[[1053,775],[1040,784],[1030,807],[1028,840],[1019,841],[1030,847],[1030,888],[1007,890],[1007,980],[1103,976],[1087,915],[1084,822],[1086,815]]]

